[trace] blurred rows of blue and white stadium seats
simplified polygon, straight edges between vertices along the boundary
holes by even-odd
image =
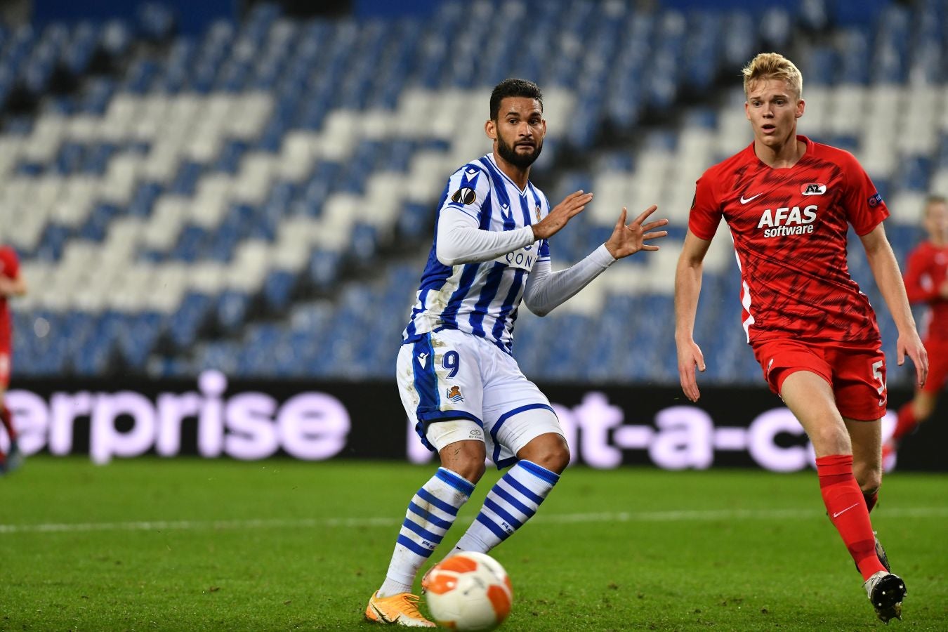
[[[811,34],[796,43],[801,132],[863,162],[900,257],[921,197],[948,189],[945,8],[838,5],[445,2],[428,16],[301,20],[255,4],[181,36],[148,4],[134,22],[2,29],[0,225],[42,288],[16,316],[17,370],[388,379],[444,178],[485,151],[469,122],[514,73],[546,91],[538,178],[551,203],[596,192],[551,240],[555,267],[605,241],[623,206],[654,202],[671,221],[655,256],[613,266],[550,316],[524,308],[521,366],[535,379],[674,383],[678,244],[694,181],[750,142],[732,79],[755,50]],[[865,263],[852,268],[875,291]],[[704,282],[709,378],[757,381],[726,235]],[[393,316],[370,321],[366,306]]]

